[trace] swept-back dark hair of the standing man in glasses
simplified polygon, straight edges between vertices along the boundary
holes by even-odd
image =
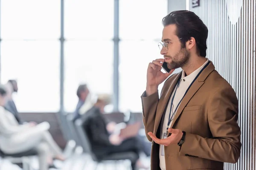
[[[203,21],[194,13],[187,10],[172,11],[162,20],[163,26],[175,24],[176,34],[180,39],[182,47],[191,37],[195,38],[198,55],[206,57],[208,28]]]

